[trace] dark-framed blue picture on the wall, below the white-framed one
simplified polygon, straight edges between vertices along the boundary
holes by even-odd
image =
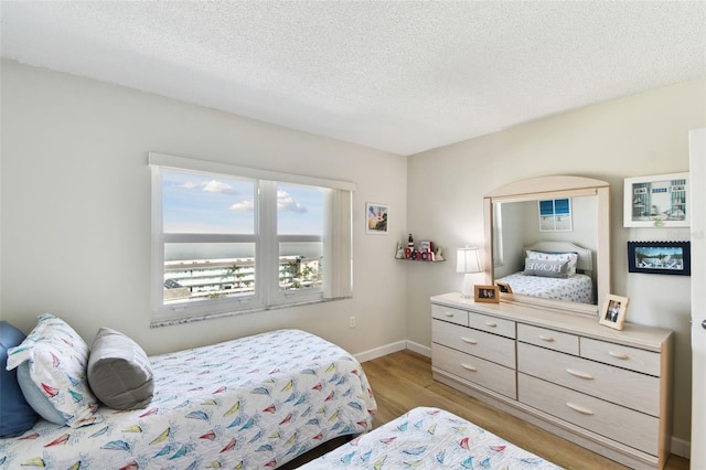
[[[628,271],[691,276],[689,242],[628,242]]]

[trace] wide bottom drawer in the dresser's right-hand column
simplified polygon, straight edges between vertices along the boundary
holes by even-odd
[[[617,442],[657,455],[660,420],[538,378],[518,374],[520,402]]]

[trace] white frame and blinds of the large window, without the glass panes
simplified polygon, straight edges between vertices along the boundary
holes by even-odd
[[[347,181],[281,173],[236,167],[163,153],[149,153],[152,170],[152,325],[202,320],[213,317],[282,308],[352,297],[352,193],[355,184]],[[161,170],[171,169],[256,180],[256,227],[253,235],[240,234],[164,234],[162,227]],[[317,186],[327,190],[323,236],[277,234],[277,183]],[[323,289],[280,291],[278,282],[279,243],[322,241],[324,250]],[[255,243],[254,295],[164,305],[164,244],[188,242]]]

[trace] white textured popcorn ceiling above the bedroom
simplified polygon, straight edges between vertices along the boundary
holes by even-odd
[[[6,1],[2,56],[411,154],[706,75],[706,2]]]

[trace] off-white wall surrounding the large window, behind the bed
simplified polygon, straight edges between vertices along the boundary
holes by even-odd
[[[29,332],[49,311],[148,353],[285,327],[352,353],[406,338],[397,237],[366,235],[364,217],[386,203],[406,229],[406,158],[15,62],[1,78],[2,319]],[[150,329],[150,150],[355,182],[353,299]]]

